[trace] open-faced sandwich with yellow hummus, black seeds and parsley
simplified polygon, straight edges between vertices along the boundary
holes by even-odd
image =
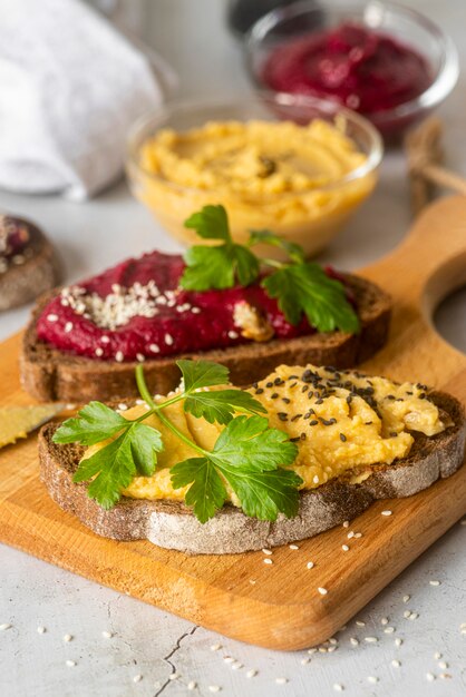
[[[90,402],[39,435],[51,498],[98,534],[192,553],[312,537],[376,499],[408,497],[463,462],[465,415],[426,385],[280,365],[247,390],[227,370],[179,361],[153,396]]]

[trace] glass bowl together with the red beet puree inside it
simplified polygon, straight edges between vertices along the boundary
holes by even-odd
[[[249,72],[258,87],[333,99],[397,141],[452,91],[453,41],[415,10],[378,0],[294,2],[251,29]]]

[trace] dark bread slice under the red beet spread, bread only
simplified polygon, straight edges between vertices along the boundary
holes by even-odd
[[[359,334],[317,333],[290,340],[247,343],[223,350],[190,353],[149,360],[144,372],[153,393],[167,394],[179,383],[178,359],[205,359],[222,363],[230,370],[236,385],[251,384],[265,377],[281,363],[291,365],[334,365],[353,367],[387,341],[391,301],[378,286],[353,275],[346,276],[358,305],[361,322]],[[75,356],[54,348],[37,337],[36,323],[50,295],[42,298],[26,328],[20,354],[20,374],[25,390],[43,401],[108,401],[137,394],[135,362],[117,363]]]

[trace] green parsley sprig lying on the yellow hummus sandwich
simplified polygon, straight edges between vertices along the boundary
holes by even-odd
[[[127,420],[100,402],[90,402],[74,419],[56,431],[55,443],[94,445],[110,442],[91,457],[81,460],[75,482],[88,481],[88,495],[103,508],[110,509],[119,500],[122,489],[134,477],[149,477],[157,467],[157,453],[164,448],[163,434],[144,424],[152,414],[184,441],[198,457],[175,464],[172,470],[174,489],[188,487],[187,505],[193,507],[201,522],[206,522],[224,504],[225,482],[237,495],[246,516],[275,520],[297,514],[300,477],[281,465],[291,464],[298,452],[295,443],[278,429],[269,428],[264,406],[242,390],[204,387],[229,382],[229,371],[210,361],[177,361],[182,372],[182,389],[171,399],[156,403],[151,395],[142,365],[136,369],[136,382],[148,410],[138,419]],[[183,402],[183,409],[210,423],[225,425],[212,451],[201,448],[168,419],[164,410]],[[240,415],[236,415],[240,414]]]

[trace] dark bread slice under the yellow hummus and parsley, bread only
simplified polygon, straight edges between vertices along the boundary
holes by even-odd
[[[106,511],[88,498],[84,483],[72,482],[84,449],[52,443],[57,429],[54,423],[39,434],[40,477],[58,505],[106,538],[147,539],[194,554],[237,553],[287,544],[351,520],[377,499],[410,497],[459,469],[466,433],[463,408],[446,393],[433,392],[429,399],[447,412],[452,426],[433,438],[414,434],[408,458],[391,465],[373,465],[372,474],[361,484],[351,484],[347,475],[301,492],[299,514],[290,520],[280,516],[276,522],[261,521],[227,504],[202,524],[183,503],[128,498]]]

